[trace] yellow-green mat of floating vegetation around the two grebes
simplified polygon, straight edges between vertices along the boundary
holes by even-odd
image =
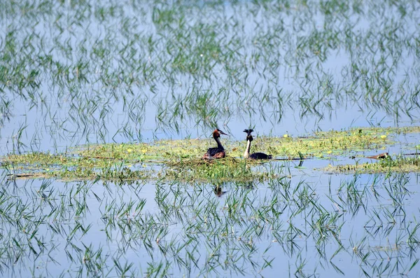
[[[353,128],[351,130],[316,132],[309,137],[258,137],[251,151],[264,151],[276,160],[305,158],[323,159],[349,152],[381,149],[394,144],[393,135],[419,132],[420,127]],[[252,181],[278,177],[281,169],[272,172],[260,167],[260,161],[243,160],[245,141],[223,140],[228,158],[204,161],[202,154],[214,146],[211,139],[159,140],[150,144],[98,144],[79,146],[67,153],[10,154],[1,158],[1,167],[15,178],[54,178],[63,180],[104,179],[180,179],[183,181]],[[400,161],[395,160],[393,163]],[[402,160],[401,160],[402,161]],[[406,161],[406,160],[404,160]],[[407,160],[408,161],[408,160]],[[326,171],[400,172],[398,165],[373,163],[329,167]],[[271,165],[271,163],[267,163]],[[374,166],[377,165],[377,166]],[[418,172],[404,164],[403,172]],[[410,165],[410,166],[409,166]],[[414,163],[415,165],[415,163]]]

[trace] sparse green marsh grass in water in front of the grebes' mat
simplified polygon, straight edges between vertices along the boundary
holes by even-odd
[[[276,269],[279,252],[297,274],[312,271],[314,260],[328,272],[346,273],[340,260],[351,259],[369,276],[395,265],[414,271],[417,260],[404,259],[419,246],[419,225],[403,204],[407,176],[366,181],[356,174],[335,186],[339,179],[330,181],[333,190],[325,196],[319,185],[284,176],[270,177],[269,189],[258,181],[160,180],[154,196],[143,195],[151,184],[139,181],[9,181],[1,189],[0,217],[10,232],[3,233],[0,252],[15,267],[38,258],[69,271],[69,261],[80,266],[71,271],[86,275],[226,269],[242,276]],[[27,200],[19,202],[16,193]],[[139,260],[144,256],[146,262]]]

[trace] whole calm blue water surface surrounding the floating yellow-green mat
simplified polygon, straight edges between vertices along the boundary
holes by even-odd
[[[2,1],[0,155],[204,138],[214,127],[243,140],[250,126],[281,137],[418,125],[419,9],[408,0]],[[420,140],[395,139],[392,154]],[[318,170],[348,162],[272,162],[263,167],[279,179],[216,192],[14,182],[1,169],[0,272],[418,276],[418,175]]]

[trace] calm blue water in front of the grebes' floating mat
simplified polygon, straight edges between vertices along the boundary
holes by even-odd
[[[145,276],[149,263],[162,263],[162,267],[167,267],[167,274],[177,277],[239,277],[242,274],[272,277],[289,273],[322,277],[341,272],[359,277],[363,276],[363,271],[369,275],[388,275],[397,270],[406,273],[416,260],[417,253],[417,244],[413,246],[405,240],[416,226],[414,218],[419,204],[414,200],[418,197],[416,187],[419,177],[406,174],[404,178],[408,182],[404,190],[398,192],[402,203],[397,204],[389,197],[392,183],[380,176],[360,176],[356,182],[360,190],[360,200],[357,200],[360,207],[355,205],[354,200],[349,200],[345,186],[342,187],[344,179],[341,176],[311,171],[293,171],[293,177],[287,180],[290,183],[288,190],[276,181],[269,186],[225,183],[222,185],[225,194],[221,197],[215,194],[212,184],[170,186],[146,183],[129,186],[109,183],[104,186],[92,182],[53,181],[44,191],[50,196],[50,200],[45,202],[36,197],[25,197],[38,195],[36,190],[40,188],[40,182],[7,183],[8,187],[3,192],[17,195],[15,198],[24,196],[19,198],[29,207],[28,211],[36,208],[36,213],[32,214],[41,216],[43,221],[38,223],[33,239],[15,225],[3,222],[3,230],[7,228],[8,232],[3,233],[2,271],[3,274],[18,276],[57,276],[59,273],[66,276],[77,273],[83,276],[116,276],[119,273],[116,260],[122,265],[132,263],[129,273],[143,273]],[[376,196],[369,189],[374,179],[380,181],[375,186]],[[71,192],[80,187],[85,193],[72,195]],[[169,194],[166,204],[179,200],[174,197],[176,193],[186,199],[177,208],[176,214],[167,216],[162,204],[158,205],[156,200],[159,197],[155,196],[158,187],[160,194]],[[364,188],[367,190],[363,191]],[[51,195],[49,190],[52,190]],[[302,204],[304,209],[300,210],[298,195],[304,194],[305,190],[309,191],[310,201]],[[293,199],[287,202],[284,195],[288,193]],[[233,217],[228,207],[233,199],[243,201],[244,197],[253,202],[238,209]],[[134,202],[136,207],[141,201],[145,202],[141,211],[133,208],[127,215],[119,214],[120,207],[130,202]],[[264,214],[263,211],[271,207],[272,202],[279,215],[260,218],[259,215]],[[318,214],[319,205],[327,212],[326,216]],[[78,215],[79,206],[87,207],[82,215]],[[116,210],[110,211],[109,207]],[[58,214],[54,209],[65,212]],[[202,218],[197,217],[197,209],[204,209]],[[10,212],[13,215],[13,209]],[[49,214],[53,216],[48,217]],[[314,223],[320,227],[328,226],[332,217],[336,217],[337,221],[325,234],[312,226]],[[150,218],[153,224],[141,224]],[[19,223],[26,223],[28,229],[34,225],[25,219]],[[258,225],[258,236],[250,232],[253,225]],[[334,235],[337,227],[339,233]],[[152,232],[146,232],[149,228]],[[73,232],[74,229],[76,232]],[[214,230],[224,229],[224,235],[214,235]],[[162,238],[157,243],[161,230]],[[417,232],[414,231],[414,234],[417,235]],[[15,245],[12,239],[29,242],[34,251],[23,253],[22,258],[17,258],[18,263],[10,261],[15,259],[13,254],[19,253],[16,246],[10,249]],[[353,251],[355,246],[358,246],[357,251]],[[176,253],[178,248],[181,251]],[[271,262],[269,267],[265,265],[267,262]],[[95,264],[101,267],[92,266]],[[302,267],[302,272],[294,273],[299,267]],[[415,277],[418,271],[415,267],[409,276]]]

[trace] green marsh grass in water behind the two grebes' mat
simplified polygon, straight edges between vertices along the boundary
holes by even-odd
[[[2,3],[0,125],[25,108],[3,137],[25,153],[248,119],[316,128],[347,107],[418,119],[416,5],[338,2]]]

